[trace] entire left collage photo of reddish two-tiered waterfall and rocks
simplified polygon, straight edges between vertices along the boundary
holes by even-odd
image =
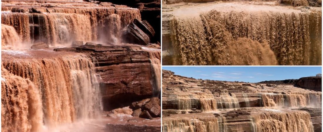
[[[1,131],[160,131],[159,0],[2,0]]]

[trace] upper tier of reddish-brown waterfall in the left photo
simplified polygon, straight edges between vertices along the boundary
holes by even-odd
[[[43,41],[50,46],[70,46],[73,41],[94,41],[117,44],[120,32],[133,19],[141,20],[133,8],[37,8],[40,13],[13,7],[2,12],[2,24],[12,26],[24,43]],[[48,13],[49,12],[49,13]],[[2,38],[10,38],[4,34]],[[12,46],[5,41],[2,45]]]

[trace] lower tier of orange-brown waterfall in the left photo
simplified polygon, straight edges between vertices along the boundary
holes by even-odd
[[[3,60],[2,72],[2,131],[41,131],[40,126],[100,115],[99,83],[89,58]]]

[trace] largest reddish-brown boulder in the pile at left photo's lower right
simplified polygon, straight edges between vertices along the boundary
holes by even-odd
[[[151,98],[142,109],[147,110],[152,117],[159,117],[161,114],[160,99],[158,97]]]

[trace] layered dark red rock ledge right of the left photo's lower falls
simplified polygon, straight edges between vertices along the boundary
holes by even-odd
[[[126,107],[152,97],[151,56],[140,46],[83,45],[54,50],[86,53],[93,59],[100,75],[103,110]],[[160,54],[156,57],[160,59]]]

